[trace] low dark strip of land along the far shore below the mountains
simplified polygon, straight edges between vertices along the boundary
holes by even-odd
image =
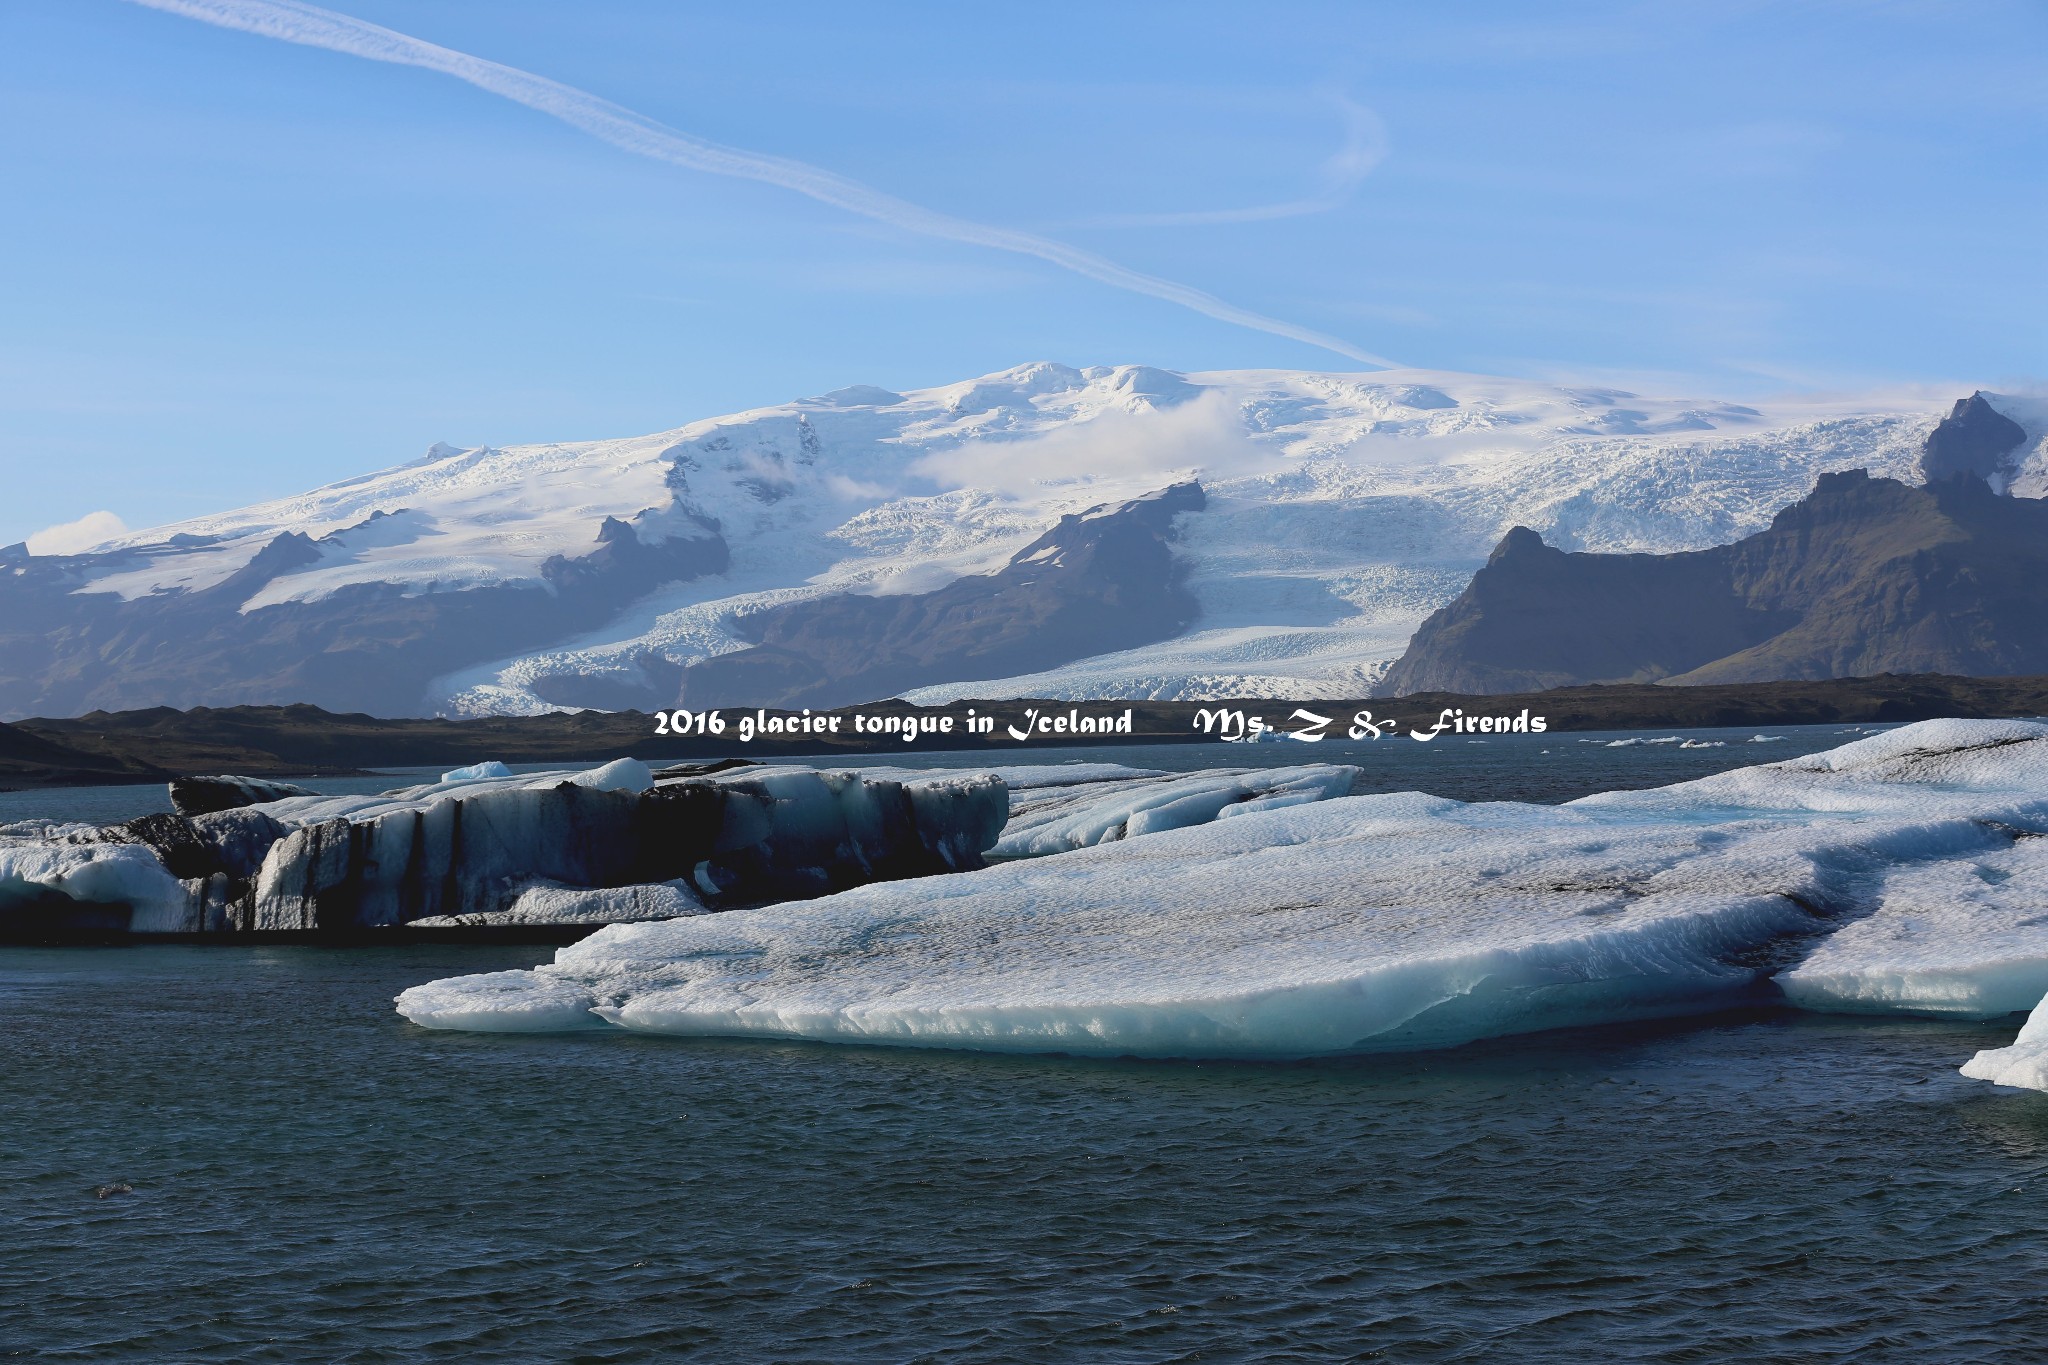
[[[236,774],[248,778],[346,778],[383,767],[434,763],[604,761],[639,757],[647,761],[700,761],[727,757],[821,757],[883,753],[1006,753],[1024,759],[1051,737],[1016,741],[993,735],[924,735],[903,741],[895,735],[856,735],[852,716],[938,716],[969,708],[999,720],[1022,718],[1028,708],[1059,714],[1110,716],[1130,712],[1130,729],[1114,735],[1063,733],[1063,747],[1180,745],[1214,743],[1217,733],[1198,729],[1198,712],[1231,710],[1264,716],[1280,726],[1294,708],[1329,716],[1329,733],[1341,735],[1360,712],[1380,724],[1427,729],[1444,712],[1470,716],[1542,716],[1548,731],[1634,731],[1774,726],[1831,722],[1909,722],[1939,716],[1993,720],[2048,714],[2048,675],[2036,677],[1954,677],[1942,673],[1837,677],[1825,681],[1722,684],[1710,688],[1665,688],[1657,684],[1597,684],[1462,696],[1423,692],[1407,698],[1352,698],[1296,702],[1249,698],[1229,702],[1139,702],[1139,700],[961,700],[952,706],[911,706],[889,700],[870,706],[791,712],[768,716],[842,716],[838,735],[758,735],[750,743],[733,735],[657,733],[649,712],[551,712],[545,716],[492,716],[477,720],[379,718],[336,714],[317,706],[227,706],[150,708],[90,712],[76,718],[0,722],[0,790],[43,790],[63,786],[119,786],[168,782],[190,774]],[[727,708],[733,716],[756,708]]]

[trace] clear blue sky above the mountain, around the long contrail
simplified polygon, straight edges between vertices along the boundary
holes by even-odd
[[[2036,0],[338,8],[1405,364],[2048,370]],[[1038,358],[1360,368],[121,0],[0,0],[0,544]]]

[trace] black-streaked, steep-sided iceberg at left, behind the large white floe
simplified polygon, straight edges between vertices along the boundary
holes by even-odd
[[[457,769],[367,796],[8,827],[0,929],[352,933],[698,915],[977,868],[1006,819],[1001,780],[973,772]]]

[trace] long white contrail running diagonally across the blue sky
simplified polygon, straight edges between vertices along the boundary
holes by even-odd
[[[1278,317],[1251,313],[1249,309],[1225,303],[1214,295],[1206,295],[1200,289],[1118,266],[1114,260],[1106,260],[1094,252],[1083,252],[1034,233],[991,227],[989,223],[975,223],[948,213],[934,213],[932,209],[895,199],[893,194],[883,194],[881,190],[860,184],[858,180],[836,176],[829,170],[807,166],[805,162],[793,162],[788,158],[766,156],[760,151],[743,151],[739,147],[723,147],[715,141],[705,141],[702,137],[690,137],[688,133],[678,133],[672,127],[637,115],[631,108],[602,100],[588,90],[563,86],[561,82],[547,80],[545,76],[500,65],[498,61],[485,61],[483,57],[471,57],[469,53],[461,53],[451,47],[438,47],[393,29],[383,29],[348,14],[336,14],[334,10],[303,4],[301,0],[131,0],[131,4],[143,4],[154,10],[197,18],[207,25],[219,25],[221,29],[256,33],[283,43],[326,47],[352,57],[389,61],[393,65],[418,65],[428,72],[440,72],[442,76],[455,76],[457,80],[467,80],[479,90],[489,90],[492,94],[537,108],[543,115],[561,119],[563,123],[578,127],[592,137],[600,137],[614,147],[653,158],[655,162],[702,170],[715,176],[764,180],[768,184],[778,184],[784,190],[809,194],[811,199],[834,205],[836,209],[858,213],[860,217],[877,219],[905,231],[924,233],[928,237],[946,237],[950,241],[967,241],[973,246],[993,248],[997,252],[1036,256],[1038,260],[1061,266],[1063,270],[1073,270],[1075,274],[1083,274],[1102,284],[1126,289],[1135,295],[1165,299],[1167,303],[1178,303],[1219,321],[1237,323],[1239,327],[1251,327],[1270,336],[1284,336],[1294,342],[1307,342],[1309,346],[1321,346],[1323,350],[1350,356],[1352,360],[1362,360],[1364,364],[1399,368],[1393,360],[1360,350],[1341,338],[1311,332],[1309,327],[1296,327],[1294,323],[1280,321]]]

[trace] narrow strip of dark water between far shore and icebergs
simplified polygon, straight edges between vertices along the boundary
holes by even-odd
[[[1274,716],[1278,720],[1278,716]],[[963,753],[870,753],[829,759],[786,759],[829,763],[831,767],[1001,767],[1014,763],[1128,763],[1192,772],[1198,767],[1286,767],[1294,763],[1356,763],[1366,769],[1374,792],[1434,792],[1458,800],[1571,800],[1589,792],[1663,786],[1704,778],[1726,767],[1776,763],[1778,759],[1833,749],[1880,726],[1790,724],[1761,731],[1774,743],[1749,743],[1755,729],[1708,731],[1602,731],[1571,735],[1438,735],[1417,743],[1401,735],[1386,739],[1327,739],[1321,743],[1272,741],[1260,745],[1106,745],[1055,749],[1018,745]],[[1888,729],[1888,726],[1882,726]],[[1647,739],[1692,739],[1702,749],[1677,743],[1622,743]],[[473,755],[475,761],[492,757]],[[748,757],[733,745],[733,757]],[[563,763],[514,763],[514,772],[563,767]],[[440,767],[391,767],[365,778],[305,778],[299,786],[315,792],[383,792],[414,782],[434,782]],[[111,825],[137,814],[170,810],[162,786],[86,786],[39,792],[0,792],[0,825],[29,819],[63,819]]]

